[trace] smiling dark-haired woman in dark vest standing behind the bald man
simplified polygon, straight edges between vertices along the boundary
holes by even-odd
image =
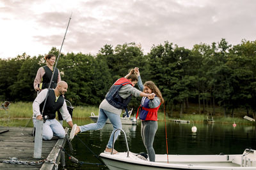
[[[40,67],[38,69],[34,80],[34,89],[36,90],[36,92],[40,92],[43,89],[47,89],[49,87],[52,72],[54,71],[53,66],[55,64],[56,56],[52,53],[49,53],[48,55],[45,55],[45,60],[46,66]],[[54,76],[52,78],[51,89],[55,89],[59,81],[61,81],[60,71],[58,70],[58,68],[56,68],[56,70],[54,71]]]

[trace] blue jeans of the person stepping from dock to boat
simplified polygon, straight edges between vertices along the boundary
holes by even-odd
[[[116,129],[122,129],[122,123],[121,123],[119,115],[116,115],[115,113],[111,113],[109,111],[100,109],[97,123],[79,126],[80,131],[84,132],[84,131],[102,129],[104,127],[104,125],[106,124],[106,121],[108,120],[108,118],[109,118],[109,121],[111,122],[111,124],[113,125],[113,132],[111,133],[111,136],[109,138],[107,147],[112,148],[113,147],[113,136],[114,136],[115,130]],[[119,134],[120,134],[120,131],[117,131],[115,133],[114,142],[118,138]]]

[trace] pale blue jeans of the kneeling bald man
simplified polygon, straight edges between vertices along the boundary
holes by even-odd
[[[36,119],[33,118],[34,127],[36,125]],[[60,122],[56,120],[56,118],[52,120],[46,120],[43,125],[43,139],[51,140],[53,136],[57,136],[58,138],[65,138],[66,133]]]

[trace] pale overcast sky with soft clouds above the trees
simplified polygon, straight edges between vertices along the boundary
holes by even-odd
[[[0,58],[26,52],[96,54],[106,44],[135,42],[143,52],[164,41],[191,49],[225,38],[256,40],[255,0],[0,0]]]

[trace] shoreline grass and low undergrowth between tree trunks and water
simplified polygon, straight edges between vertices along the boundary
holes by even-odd
[[[170,113],[168,113],[168,117],[166,116],[167,121],[172,120],[189,120],[191,123],[203,123],[205,119],[207,118],[213,118],[214,124],[244,124],[244,125],[256,125],[255,122],[251,122],[249,120],[245,120],[243,117],[246,115],[246,111],[243,110],[237,110],[237,113],[234,117],[224,117],[223,113],[219,110],[216,112],[215,115],[211,115],[211,111],[208,111],[208,113],[196,113],[196,105],[191,106],[188,110],[188,113],[182,114],[182,117],[179,117],[179,111],[173,111],[172,115],[170,116]],[[132,111],[131,117],[136,116],[137,108]],[[98,115],[99,108],[96,106],[74,106],[73,110],[73,118],[74,119],[84,119],[89,118],[91,116],[91,113],[95,113],[95,115]],[[1,110],[0,112],[0,120],[1,115],[4,115],[4,110]],[[8,115],[10,115],[10,118],[31,118],[33,115],[32,110],[32,102],[17,102],[17,103],[11,103],[8,109]],[[159,121],[164,121],[164,111],[161,110],[158,113]]]

